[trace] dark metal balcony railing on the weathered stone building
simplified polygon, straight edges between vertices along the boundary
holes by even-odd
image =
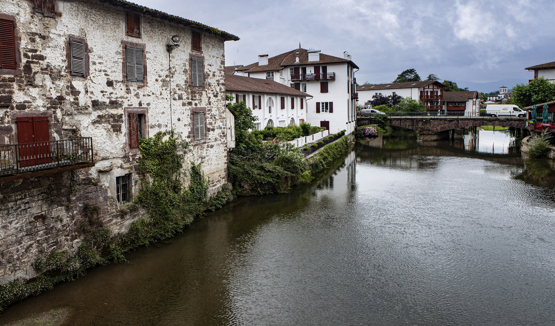
[[[0,182],[94,166],[92,137],[0,145]]]

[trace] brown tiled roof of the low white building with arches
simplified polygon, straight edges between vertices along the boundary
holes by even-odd
[[[273,80],[227,74],[225,75],[225,90],[312,97],[312,95]]]

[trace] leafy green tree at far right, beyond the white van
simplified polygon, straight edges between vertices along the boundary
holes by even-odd
[[[541,77],[528,84],[517,84],[513,88],[511,100],[524,108],[533,104],[552,101],[555,98],[555,84]]]

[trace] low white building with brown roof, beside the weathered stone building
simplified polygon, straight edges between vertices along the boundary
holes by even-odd
[[[285,127],[306,121],[306,100],[312,96],[272,80],[225,75],[226,94],[244,101],[258,118],[254,128]]]

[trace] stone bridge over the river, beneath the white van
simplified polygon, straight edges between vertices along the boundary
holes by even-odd
[[[372,124],[371,117],[361,118],[357,116],[357,126],[369,124]],[[387,124],[416,130],[421,140],[440,140],[449,136],[449,130],[457,128],[503,126],[524,129],[526,128],[526,118],[490,118],[487,116],[391,116]]]

